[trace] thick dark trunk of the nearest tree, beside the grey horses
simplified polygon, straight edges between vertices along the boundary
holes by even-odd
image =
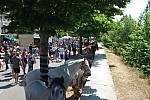
[[[48,86],[48,35],[40,31],[40,77]]]

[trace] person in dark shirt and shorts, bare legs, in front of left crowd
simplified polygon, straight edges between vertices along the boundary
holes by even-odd
[[[18,84],[18,75],[20,73],[20,66],[22,66],[21,58],[19,57],[19,52],[16,52],[15,56],[12,57],[12,64],[14,70],[15,83]]]

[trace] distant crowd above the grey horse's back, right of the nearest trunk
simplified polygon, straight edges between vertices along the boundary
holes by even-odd
[[[67,61],[69,59],[69,56],[76,56],[79,53],[78,49],[79,42],[76,40],[73,40],[71,42],[68,40],[66,42],[55,41],[54,43],[49,43],[49,59],[51,60],[51,62],[59,62],[63,59]]]

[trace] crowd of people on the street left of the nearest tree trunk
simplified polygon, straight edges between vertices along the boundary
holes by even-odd
[[[4,53],[3,62],[6,66],[5,71],[11,68],[12,77],[15,79],[16,84],[18,84],[18,75],[21,69],[24,75],[26,74],[27,65],[28,71],[33,70],[33,64],[36,63],[35,55],[38,55],[35,49],[36,47],[33,47],[32,50],[29,51],[26,49],[21,50],[17,43],[13,45],[10,41],[5,41],[3,44],[0,44],[0,53]],[[3,64],[0,65],[3,66]]]

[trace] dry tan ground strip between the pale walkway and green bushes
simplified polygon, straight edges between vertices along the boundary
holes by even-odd
[[[118,100],[150,100],[150,84],[134,67],[104,47]]]

